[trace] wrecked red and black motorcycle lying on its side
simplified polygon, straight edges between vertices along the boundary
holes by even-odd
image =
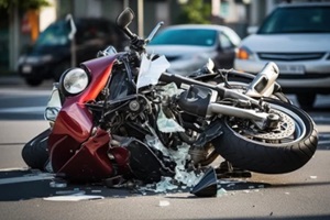
[[[30,167],[69,180],[170,177],[194,186],[218,157],[228,169],[263,174],[293,172],[312,157],[316,124],[282,94],[276,64],[256,76],[215,69],[211,61],[190,77],[168,74],[164,56],[145,53],[162,23],[142,38],[129,29],[133,18],[125,9],[117,19],[129,51],[109,46],[54,84],[51,127],[22,150]]]

